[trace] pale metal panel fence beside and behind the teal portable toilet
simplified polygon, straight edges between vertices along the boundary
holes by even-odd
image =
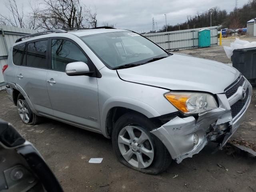
[[[205,27],[171,32],[149,33],[144,36],[168,51],[198,47],[198,31],[211,30],[211,46],[218,45],[218,27]]]

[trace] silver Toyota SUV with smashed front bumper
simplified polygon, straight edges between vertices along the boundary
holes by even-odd
[[[252,86],[235,68],[170,54],[114,28],[50,30],[10,48],[6,91],[26,124],[40,116],[112,138],[120,162],[158,174],[242,122]]]

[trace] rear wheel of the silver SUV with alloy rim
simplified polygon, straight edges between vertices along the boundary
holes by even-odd
[[[17,98],[17,110],[22,122],[28,125],[36,125],[38,123],[38,116],[29,108],[25,98],[20,93]]]

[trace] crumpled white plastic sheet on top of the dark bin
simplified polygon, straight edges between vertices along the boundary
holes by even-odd
[[[252,47],[256,47],[256,41],[248,42],[246,40],[240,40],[239,38],[236,38],[236,40],[233,43],[230,43],[230,47],[223,46],[224,51],[226,52],[228,58],[231,58],[231,56],[233,55],[233,50],[235,49],[244,49]]]

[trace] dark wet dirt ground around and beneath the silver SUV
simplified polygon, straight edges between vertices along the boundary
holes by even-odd
[[[223,48],[217,46],[191,52],[193,56],[226,60]],[[255,96],[256,87],[246,119],[234,137],[255,141]],[[66,192],[256,192],[256,160],[239,154],[227,155],[226,150],[216,150],[214,143],[180,164],[172,162],[162,174],[146,175],[120,164],[111,140],[104,136],[47,118],[36,126],[25,125],[5,91],[0,91],[0,100],[0,118],[11,122],[36,146]],[[90,164],[90,158],[103,158],[103,161]]]

